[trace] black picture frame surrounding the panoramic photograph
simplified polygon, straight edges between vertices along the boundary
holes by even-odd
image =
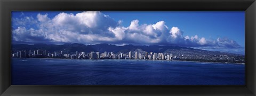
[[[0,95],[256,95],[255,0],[0,0]],[[11,11],[245,11],[245,85],[11,85]]]

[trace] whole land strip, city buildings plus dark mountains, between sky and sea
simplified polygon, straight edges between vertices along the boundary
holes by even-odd
[[[193,48],[175,47],[175,46],[166,46],[166,47],[126,46],[126,47],[122,47],[122,49],[120,49],[121,47],[119,46],[115,46],[114,48],[113,45],[107,46],[106,44],[102,44],[98,46],[90,46],[91,48],[87,47],[89,49],[84,49],[86,47],[85,45],[79,45],[76,43],[71,45],[55,45],[55,47],[53,47],[52,45],[21,45],[21,46],[22,47],[15,47],[12,50],[13,58],[148,59],[148,60],[181,60],[181,61],[219,62],[219,63],[245,63],[244,55],[222,53],[220,51],[198,50]],[[48,50],[45,48],[47,48]],[[54,50],[51,50],[52,48]],[[58,49],[55,49],[55,48],[58,48]],[[94,48],[98,50],[95,50]],[[114,49],[114,50],[106,51],[107,48]],[[82,50],[74,50],[74,49],[82,49]]]

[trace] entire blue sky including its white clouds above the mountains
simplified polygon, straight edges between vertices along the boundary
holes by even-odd
[[[244,11],[12,11],[12,43],[174,45],[244,54]]]

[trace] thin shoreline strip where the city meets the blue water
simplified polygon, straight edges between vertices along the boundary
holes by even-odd
[[[11,57],[13,58],[13,57]],[[67,59],[67,58],[18,58],[18,59]],[[72,60],[72,59],[71,59]],[[104,59],[76,59],[76,60],[104,60]],[[107,59],[106,59],[107,60]],[[149,60],[149,59],[111,59],[111,60]],[[153,59],[152,59],[153,60]],[[218,63],[218,64],[239,64],[245,65],[245,63],[221,63],[221,62],[196,62],[189,60],[154,60],[154,61],[169,61],[169,62],[194,62],[194,63]]]

